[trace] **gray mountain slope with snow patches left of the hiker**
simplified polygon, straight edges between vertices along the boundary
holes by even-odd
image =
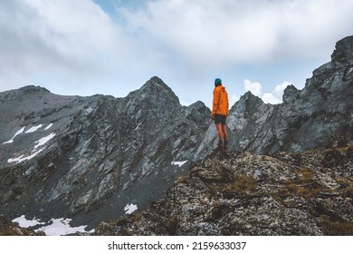
[[[120,99],[28,86],[0,102],[0,213],[72,218],[88,229],[163,197],[210,113],[200,102],[181,106],[157,77]]]

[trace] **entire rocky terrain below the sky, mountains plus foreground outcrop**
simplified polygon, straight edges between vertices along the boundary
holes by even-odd
[[[0,214],[32,230],[352,232],[353,36],[283,103],[243,94],[221,157],[210,109],[182,106],[158,77],[125,98],[25,86],[0,93],[0,109]]]

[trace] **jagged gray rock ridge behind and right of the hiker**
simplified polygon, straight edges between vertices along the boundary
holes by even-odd
[[[336,44],[331,62],[316,69],[301,91],[288,86],[283,103],[265,104],[245,93],[230,110],[227,125],[231,149],[258,154],[327,147],[335,135],[351,140],[353,36]],[[205,158],[215,143],[215,127],[210,126],[196,159]]]

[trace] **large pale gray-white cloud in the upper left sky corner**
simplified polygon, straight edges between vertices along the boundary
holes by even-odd
[[[90,0],[2,1],[0,16],[4,90],[37,80],[72,90],[72,84],[122,72],[121,59],[134,52],[119,25]]]

